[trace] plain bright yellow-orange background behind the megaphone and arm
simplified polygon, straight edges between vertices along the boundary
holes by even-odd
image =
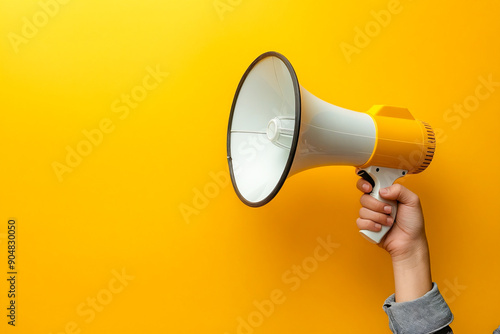
[[[216,3],[226,4],[223,12]],[[391,263],[358,234],[354,168],[294,176],[258,209],[210,176],[227,173],[238,81],[270,50],[326,101],[358,111],[405,106],[438,129],[430,168],[402,183],[421,196],[433,280],[455,315],[452,327],[491,333],[500,325],[500,87],[473,112],[449,109],[472,101],[481,77],[500,81],[500,2],[401,0],[349,62],[340,45],[355,45],[356,27],[390,3],[71,0],[44,22],[37,1],[3,0],[2,333],[233,334],[238,318],[274,290],[286,300],[251,332],[389,332],[382,303],[393,293]],[[22,36],[23,18],[36,15],[41,26],[15,52],[9,36]],[[113,102],[157,66],[168,76],[120,119]],[[53,163],[64,164],[66,147],[103,119],[113,131],[59,182]],[[6,318],[11,217],[19,237],[15,328]],[[339,247],[292,291],[282,275],[327,236]],[[133,279],[110,301],[122,271]],[[109,303],[89,320],[78,307],[97,296]]]

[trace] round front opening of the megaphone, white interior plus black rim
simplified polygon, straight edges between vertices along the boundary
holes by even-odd
[[[236,90],[227,131],[231,180],[245,204],[266,204],[285,182],[297,148],[300,108],[290,62],[276,52],[255,59]]]

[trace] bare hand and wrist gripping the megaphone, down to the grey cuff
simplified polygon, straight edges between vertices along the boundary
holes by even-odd
[[[360,179],[356,186],[364,193],[360,199],[363,207],[356,221],[358,228],[378,232],[380,225],[392,225],[379,246],[392,257],[396,302],[423,296],[432,288],[432,277],[420,199],[400,184],[380,189],[382,198],[398,202],[396,221],[392,222],[391,206],[369,195],[371,184]]]

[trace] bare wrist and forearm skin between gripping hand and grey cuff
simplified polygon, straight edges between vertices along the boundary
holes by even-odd
[[[413,250],[392,257],[395,301],[402,303],[422,297],[432,289],[429,247],[425,237]]]

